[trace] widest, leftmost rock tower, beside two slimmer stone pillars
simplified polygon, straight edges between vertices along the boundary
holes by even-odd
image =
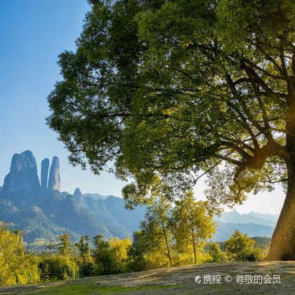
[[[40,183],[37,163],[29,150],[13,155],[11,171],[4,179],[3,192],[10,195],[22,195],[28,202],[37,199]]]

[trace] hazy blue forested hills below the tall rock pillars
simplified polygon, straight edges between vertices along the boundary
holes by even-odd
[[[69,232],[74,241],[80,235],[93,237],[98,233],[107,239],[131,237],[145,214],[144,207],[126,210],[124,199],[119,197],[77,200],[73,195],[63,197],[59,192],[51,192],[45,199],[22,208],[4,197],[0,192],[0,221],[25,230],[26,242],[56,240],[56,235],[65,232]]]

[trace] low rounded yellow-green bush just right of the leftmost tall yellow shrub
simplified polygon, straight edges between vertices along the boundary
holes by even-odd
[[[79,267],[69,256],[41,256],[39,268],[41,279],[46,281],[72,280],[79,277]]]

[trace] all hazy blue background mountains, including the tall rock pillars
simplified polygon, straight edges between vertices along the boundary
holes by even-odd
[[[49,169],[50,167],[50,169]],[[100,233],[105,238],[131,237],[145,215],[145,206],[133,211],[124,208],[124,199],[113,195],[83,194],[79,188],[71,195],[60,192],[58,157],[41,162],[40,181],[37,162],[29,150],[13,155],[11,169],[0,186],[0,221],[25,230],[25,241],[56,240],[69,232],[73,240],[80,235]],[[250,237],[273,233],[277,215],[225,212],[214,218],[218,228],[214,239],[223,241],[238,229]]]

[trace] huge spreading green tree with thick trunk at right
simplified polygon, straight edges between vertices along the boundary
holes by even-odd
[[[292,0],[89,0],[48,124],[70,161],[115,161],[129,205],[159,183],[209,176],[211,204],[287,189],[268,259],[294,259],[295,5]],[[259,201],[258,201],[259,202]]]

